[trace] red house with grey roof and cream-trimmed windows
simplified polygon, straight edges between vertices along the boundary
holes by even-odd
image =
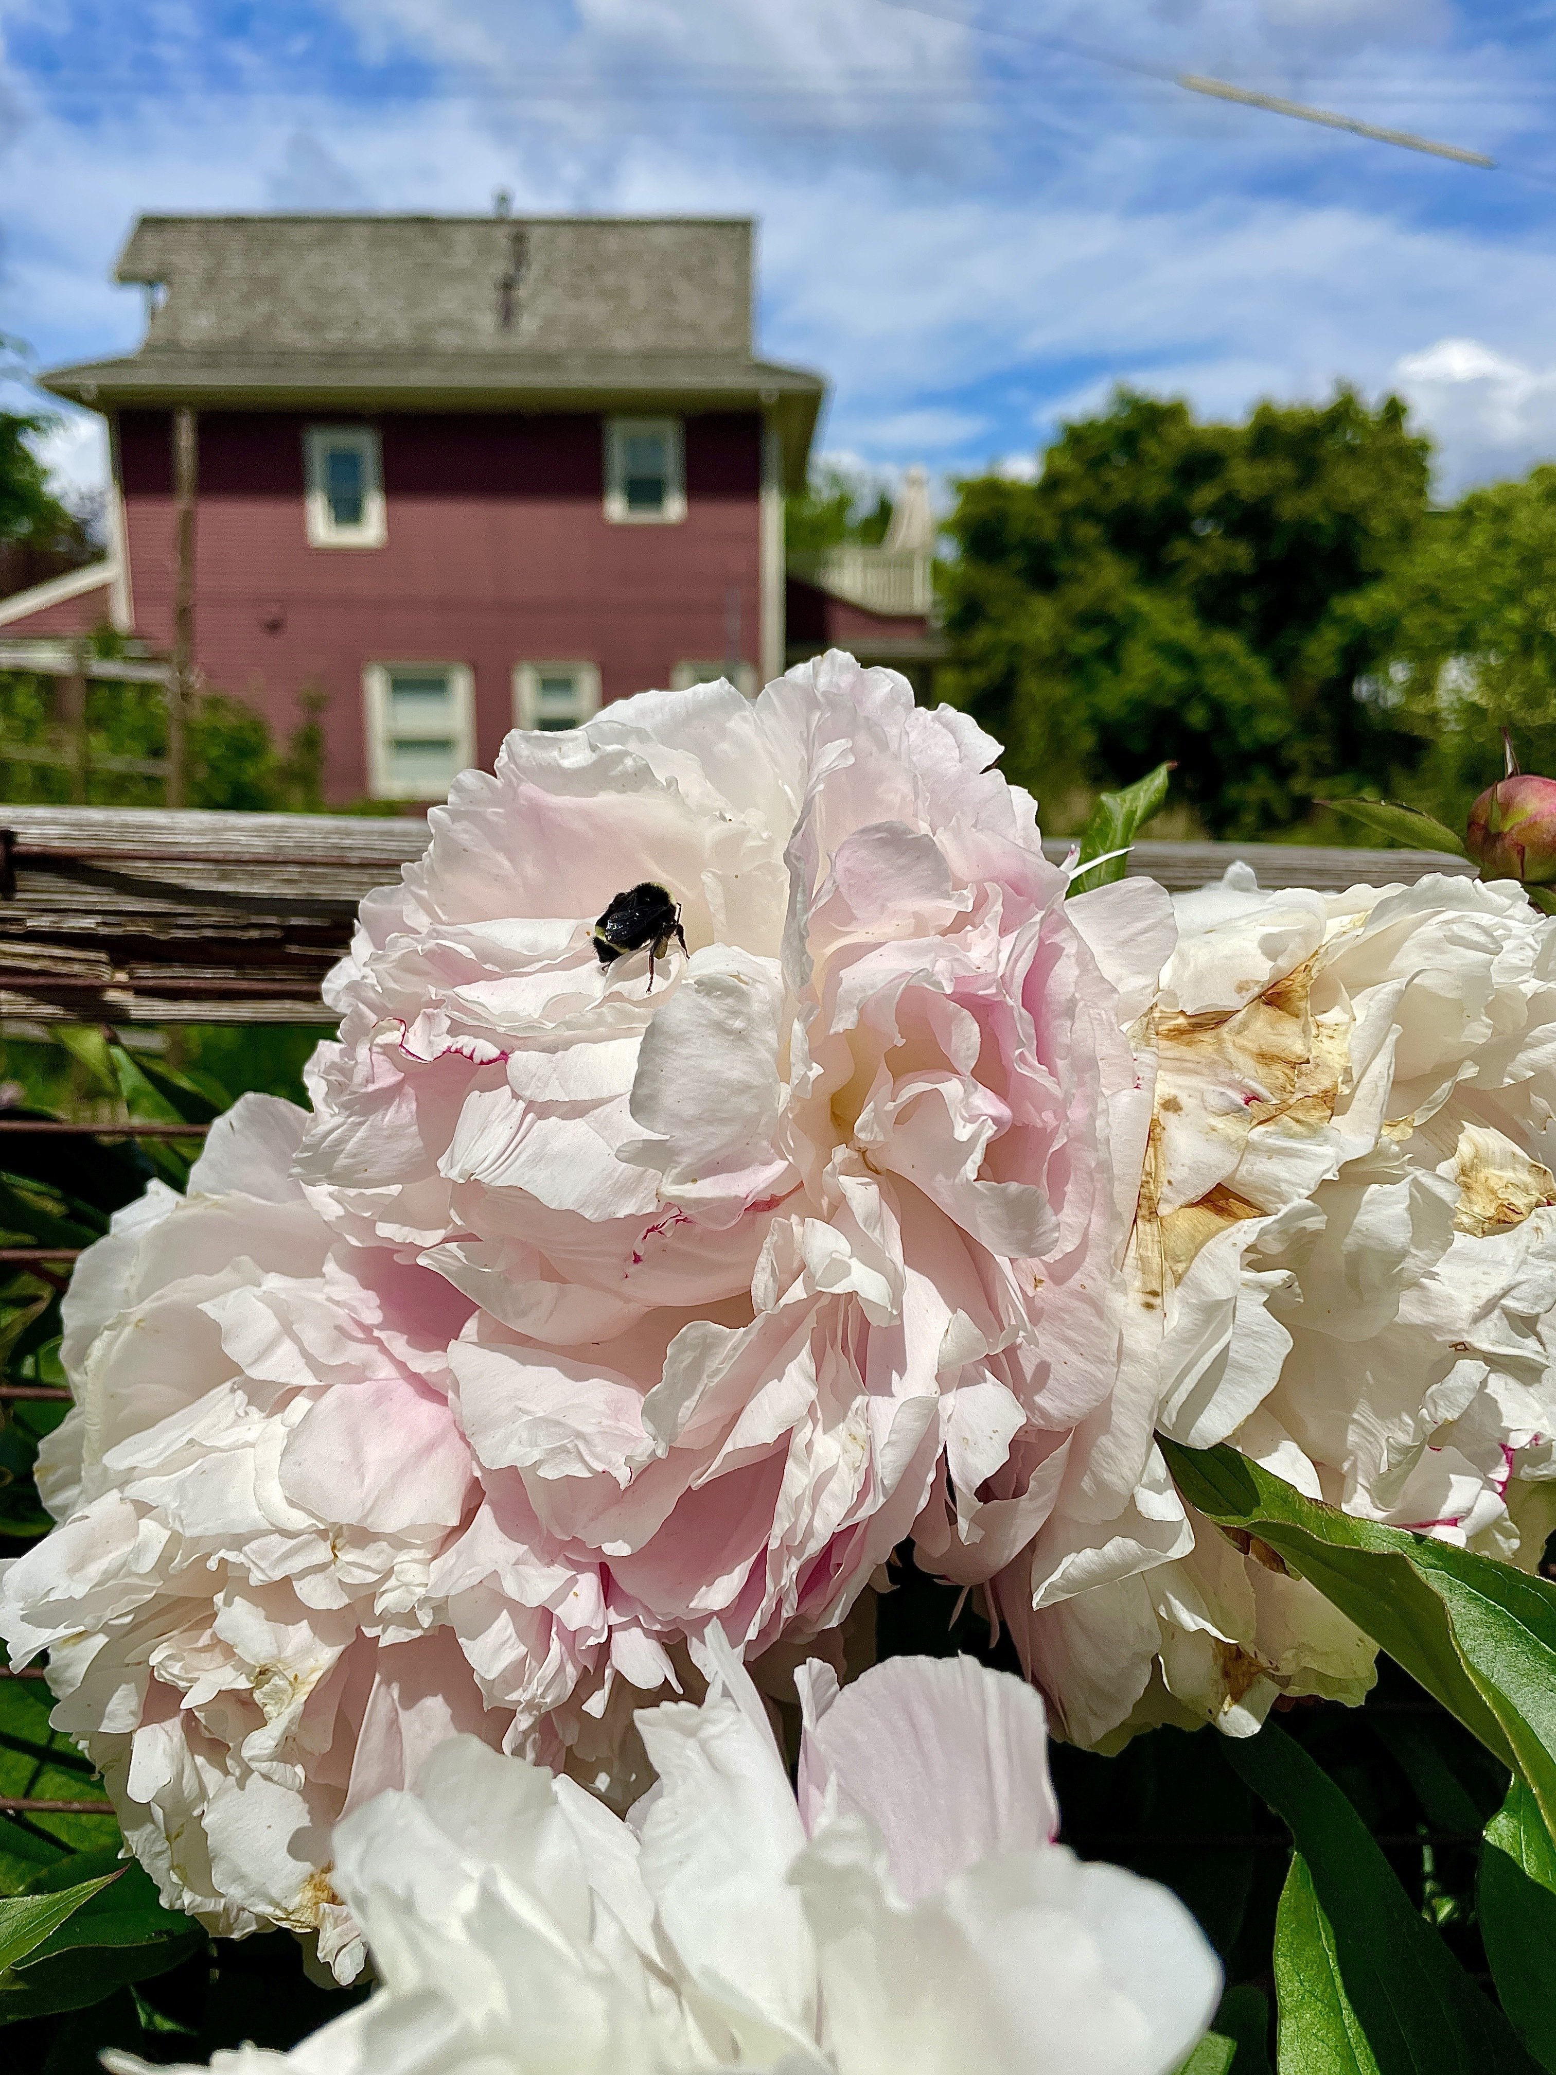
[[[112,620],[172,652],[183,583],[207,685],[278,737],[324,693],[336,801],[436,799],[510,726],[649,685],[778,674],[824,384],[755,357],[751,237],[141,218],[116,274],[145,342],[44,378],[108,417],[110,554],[0,602],[0,631]]]

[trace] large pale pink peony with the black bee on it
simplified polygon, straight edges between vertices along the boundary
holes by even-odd
[[[1066,905],[996,753],[844,656],[645,693],[512,735],[363,903],[297,1172],[479,1307],[434,1585],[515,1749],[608,1787],[614,1681],[714,1621],[793,1660],[909,1531],[992,1577],[1108,1399],[1168,903]],[[689,950],[604,965],[643,880]]]

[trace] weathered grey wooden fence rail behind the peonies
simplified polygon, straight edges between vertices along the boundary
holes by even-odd
[[[357,901],[425,842],[421,815],[0,805],[0,1015],[326,1023],[319,981]],[[1473,869],[1434,851],[1276,842],[1139,842],[1129,863],[1183,892],[1239,857],[1261,886],[1330,892]]]

